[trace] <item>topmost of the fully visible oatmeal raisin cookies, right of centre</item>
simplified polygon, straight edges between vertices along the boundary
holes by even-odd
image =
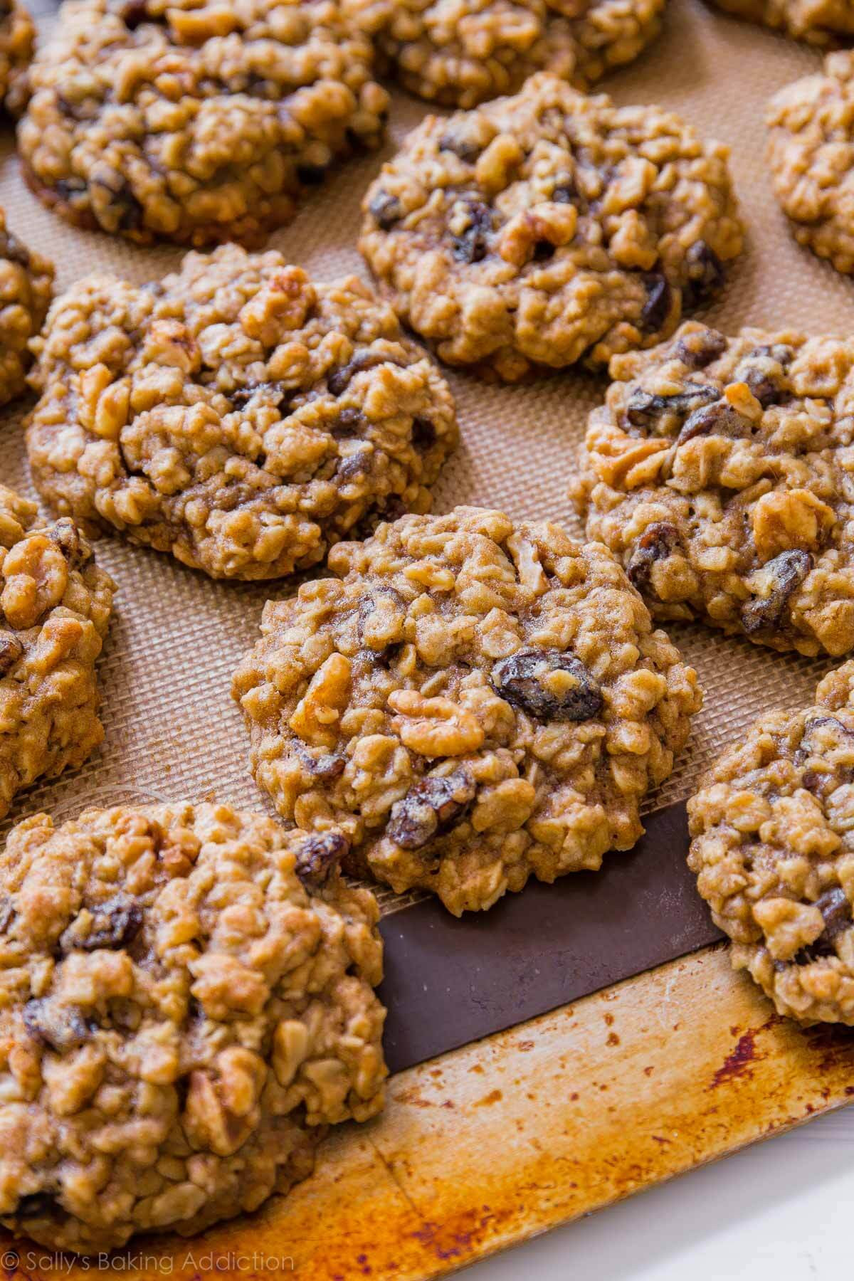
[[[556,76],[428,117],[365,197],[360,249],[442,360],[515,380],[671,333],[741,249],[727,149]]]

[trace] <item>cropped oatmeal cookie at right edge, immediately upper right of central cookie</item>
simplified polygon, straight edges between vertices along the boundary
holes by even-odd
[[[854,649],[854,345],[689,323],[611,377],[571,497],[654,616]]]

